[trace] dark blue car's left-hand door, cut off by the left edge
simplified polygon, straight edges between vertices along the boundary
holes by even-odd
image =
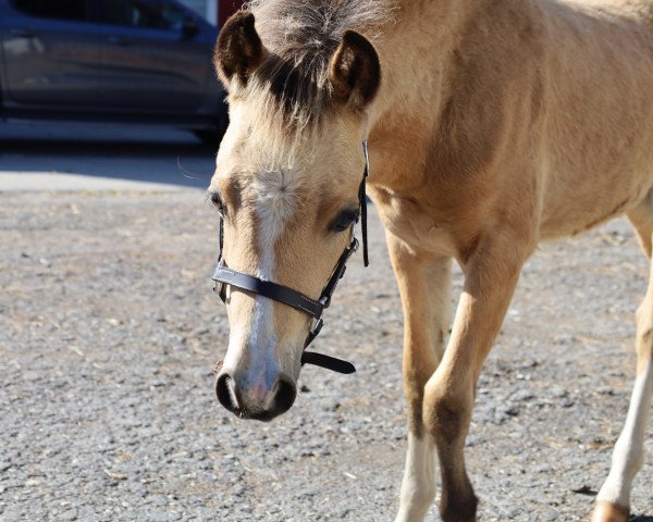
[[[98,102],[100,48],[87,0],[10,0],[0,20],[8,107],[83,108]]]

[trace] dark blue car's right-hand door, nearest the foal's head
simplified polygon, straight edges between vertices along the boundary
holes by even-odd
[[[132,113],[193,113],[205,102],[212,44],[170,0],[101,0],[102,102]]]

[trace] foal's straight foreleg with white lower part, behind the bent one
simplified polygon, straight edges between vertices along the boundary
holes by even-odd
[[[433,437],[424,430],[424,384],[442,359],[451,323],[451,259],[415,252],[387,234],[404,309],[404,393],[408,451],[396,522],[423,520],[435,497]]]

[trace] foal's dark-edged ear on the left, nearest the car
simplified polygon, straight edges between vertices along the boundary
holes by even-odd
[[[226,88],[234,76],[247,85],[250,74],[266,58],[266,48],[254,27],[254,14],[238,11],[230,17],[215,45],[213,61],[218,76]]]

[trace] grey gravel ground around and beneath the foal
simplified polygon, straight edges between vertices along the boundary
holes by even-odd
[[[214,397],[229,326],[201,191],[0,194],[0,520],[392,520],[402,316],[370,225],[371,268],[352,260],[316,346],[358,373],[306,368],[292,410],[262,424]],[[646,264],[617,221],[526,266],[468,438],[480,520],[588,520],[627,410]]]

